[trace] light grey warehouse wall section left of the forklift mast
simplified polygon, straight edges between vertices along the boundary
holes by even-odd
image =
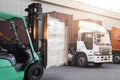
[[[31,0],[0,0],[0,11],[7,11],[19,15],[27,15],[24,11],[32,3]]]

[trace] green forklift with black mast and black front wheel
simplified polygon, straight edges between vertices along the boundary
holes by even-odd
[[[40,4],[32,6],[41,7]],[[39,80],[42,77],[46,67],[46,48],[45,40],[40,36],[43,35],[42,27],[36,27],[40,35],[32,27],[42,21],[40,14],[35,15],[36,18],[32,18],[35,23],[28,27],[23,16],[0,11],[0,80]]]

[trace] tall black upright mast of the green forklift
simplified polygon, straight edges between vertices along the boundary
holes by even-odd
[[[38,52],[44,67],[47,65],[47,39],[44,38],[44,28],[42,27],[42,7],[40,3],[33,3],[25,9],[28,12],[27,25],[33,43],[33,47]]]

